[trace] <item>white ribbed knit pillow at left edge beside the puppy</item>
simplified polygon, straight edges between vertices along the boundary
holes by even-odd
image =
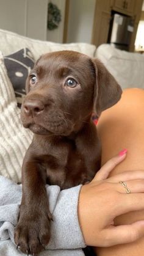
[[[0,52],[0,175],[21,182],[21,166],[32,133],[20,122],[20,109]]]

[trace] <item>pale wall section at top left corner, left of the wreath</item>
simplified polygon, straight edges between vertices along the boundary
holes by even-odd
[[[48,0],[0,0],[0,28],[46,40]]]

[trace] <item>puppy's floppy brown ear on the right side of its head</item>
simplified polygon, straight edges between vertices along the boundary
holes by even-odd
[[[121,98],[121,87],[98,59],[92,59],[95,67],[94,111],[99,116],[104,109],[112,107]]]

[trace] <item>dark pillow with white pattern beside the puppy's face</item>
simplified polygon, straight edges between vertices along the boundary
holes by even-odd
[[[9,56],[5,56],[4,64],[15,90],[18,106],[20,106],[24,95],[26,95],[25,84],[27,75],[34,67],[34,56],[32,56],[29,49],[24,48]]]

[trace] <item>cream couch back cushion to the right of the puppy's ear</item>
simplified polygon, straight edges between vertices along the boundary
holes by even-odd
[[[144,56],[129,53],[104,44],[96,50],[98,57],[110,73],[117,79],[120,86],[144,88]]]

